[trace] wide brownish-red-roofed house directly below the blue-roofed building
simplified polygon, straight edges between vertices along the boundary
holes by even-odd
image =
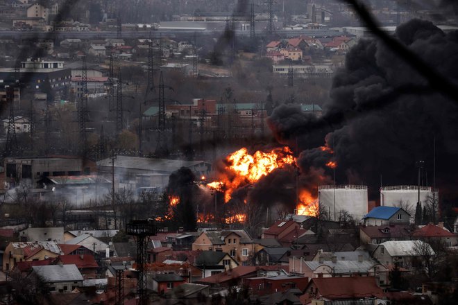
[[[359,241],[362,244],[407,241],[411,237],[412,229],[409,225],[362,225],[359,227]]]

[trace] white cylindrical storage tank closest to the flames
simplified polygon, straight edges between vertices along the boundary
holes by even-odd
[[[366,185],[321,185],[318,187],[318,199],[330,220],[339,220],[341,211],[348,211],[356,220],[367,214]]]

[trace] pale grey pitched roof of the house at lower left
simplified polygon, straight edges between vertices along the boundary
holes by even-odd
[[[33,266],[32,269],[45,282],[83,281],[83,276],[75,264]]]

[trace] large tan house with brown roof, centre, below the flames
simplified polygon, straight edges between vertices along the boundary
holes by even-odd
[[[248,233],[241,230],[202,232],[192,243],[192,250],[222,251],[237,263],[244,263],[253,255],[255,244]]]

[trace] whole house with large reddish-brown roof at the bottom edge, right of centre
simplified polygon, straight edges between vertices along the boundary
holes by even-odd
[[[375,277],[321,277],[309,281],[300,303],[305,305],[312,304],[312,300],[351,301],[366,298],[385,298]]]

